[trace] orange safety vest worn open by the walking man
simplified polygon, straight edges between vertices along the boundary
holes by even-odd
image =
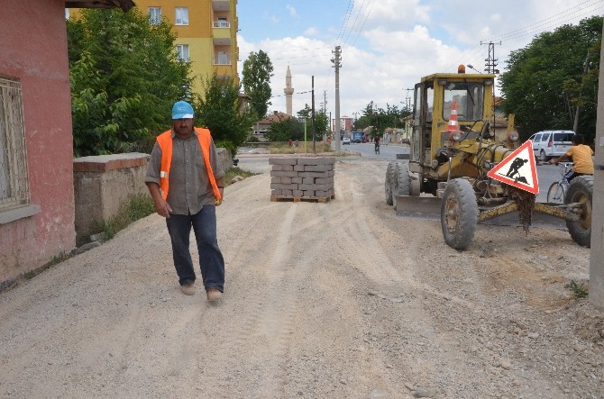
[[[214,171],[210,164],[210,144],[212,143],[212,136],[210,131],[207,129],[195,128],[197,132],[197,140],[199,141],[199,147],[201,152],[204,154],[204,162],[206,163],[207,177],[212,185],[212,191],[217,201],[222,200],[218,185],[216,185],[216,179],[214,177]],[[157,137],[157,142],[160,144],[161,149],[161,165],[160,165],[160,191],[161,197],[166,200],[168,198],[169,188],[169,166],[172,162],[172,131],[164,131]]]

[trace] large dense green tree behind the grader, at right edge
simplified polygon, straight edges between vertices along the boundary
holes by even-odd
[[[595,137],[602,17],[544,32],[524,49],[512,51],[501,75],[503,110],[514,113],[523,139],[535,131],[572,130]]]

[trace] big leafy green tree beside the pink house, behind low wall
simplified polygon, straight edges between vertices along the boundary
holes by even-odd
[[[165,130],[191,86],[171,25],[136,9],[83,10],[67,30],[75,155],[127,152]]]

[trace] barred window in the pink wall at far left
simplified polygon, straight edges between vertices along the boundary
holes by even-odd
[[[30,201],[21,82],[0,77],[0,212]]]

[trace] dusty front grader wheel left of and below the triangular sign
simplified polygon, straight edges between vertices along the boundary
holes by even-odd
[[[467,249],[474,239],[478,205],[471,184],[462,178],[451,180],[444,189],[441,228],[444,242],[453,249]]]

